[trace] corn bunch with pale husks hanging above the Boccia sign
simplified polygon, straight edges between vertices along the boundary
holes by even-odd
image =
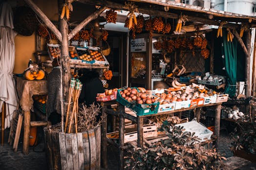
[[[138,11],[138,6],[136,6],[134,3],[132,2],[125,2],[125,6],[124,9],[127,9],[129,11],[129,14],[127,15],[127,18],[129,18],[128,20],[128,29],[131,30],[132,25],[137,25],[137,18],[135,13],[139,13]]]

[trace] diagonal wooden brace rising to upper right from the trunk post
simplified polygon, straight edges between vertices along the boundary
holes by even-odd
[[[103,11],[107,9],[106,6],[99,8],[97,11],[86,17],[80,24],[76,26],[69,34],[68,34],[68,40],[73,38],[75,34],[77,34],[80,30],[82,30],[90,21],[93,19],[96,19]]]

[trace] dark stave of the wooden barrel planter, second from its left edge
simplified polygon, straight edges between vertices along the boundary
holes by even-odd
[[[51,142],[52,142],[52,164],[54,170],[61,169],[61,154],[60,154],[60,142],[59,132],[51,131]]]

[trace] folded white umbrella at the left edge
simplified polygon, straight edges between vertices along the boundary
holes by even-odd
[[[4,128],[11,126],[13,111],[18,105],[15,81],[12,75],[15,60],[12,9],[7,2],[0,4],[0,111],[6,103]]]

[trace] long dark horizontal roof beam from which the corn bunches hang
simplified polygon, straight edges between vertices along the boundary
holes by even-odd
[[[107,6],[111,9],[127,10],[127,9],[124,9],[124,4],[112,2],[112,1],[109,1],[109,0],[97,0],[97,1],[79,0],[79,2],[86,3],[86,4],[92,4],[92,5]],[[178,14],[159,11],[159,10],[152,9],[152,8],[145,8],[145,7],[140,6],[140,7],[138,7],[138,10],[142,14],[148,14],[148,15],[151,15],[151,16],[161,16],[161,17],[173,18],[173,19],[179,18]],[[189,21],[200,22],[200,23],[204,23],[204,24],[208,24],[208,25],[219,25],[218,21],[208,19],[208,18],[188,16],[188,19],[189,19]],[[227,27],[227,28],[234,28],[236,26],[237,26],[237,24],[233,24],[233,23],[228,23],[228,24],[223,25],[223,27]]]

